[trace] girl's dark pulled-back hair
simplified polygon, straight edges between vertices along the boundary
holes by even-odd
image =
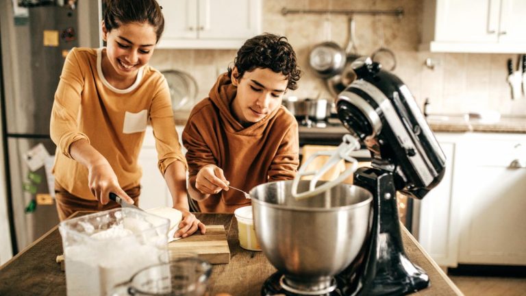
[[[156,41],[164,31],[164,17],[155,0],[105,0],[104,25],[108,32],[126,23],[149,23],[155,28]]]

